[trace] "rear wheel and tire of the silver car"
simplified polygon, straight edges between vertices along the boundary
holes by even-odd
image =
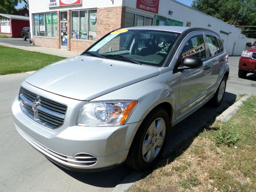
[[[220,82],[220,85],[218,87],[218,89],[216,90],[214,96],[210,99],[210,104],[214,107],[218,107],[220,106],[224,94],[225,94],[225,90],[226,90],[226,83],[227,83],[227,78],[226,76],[224,76]]]

